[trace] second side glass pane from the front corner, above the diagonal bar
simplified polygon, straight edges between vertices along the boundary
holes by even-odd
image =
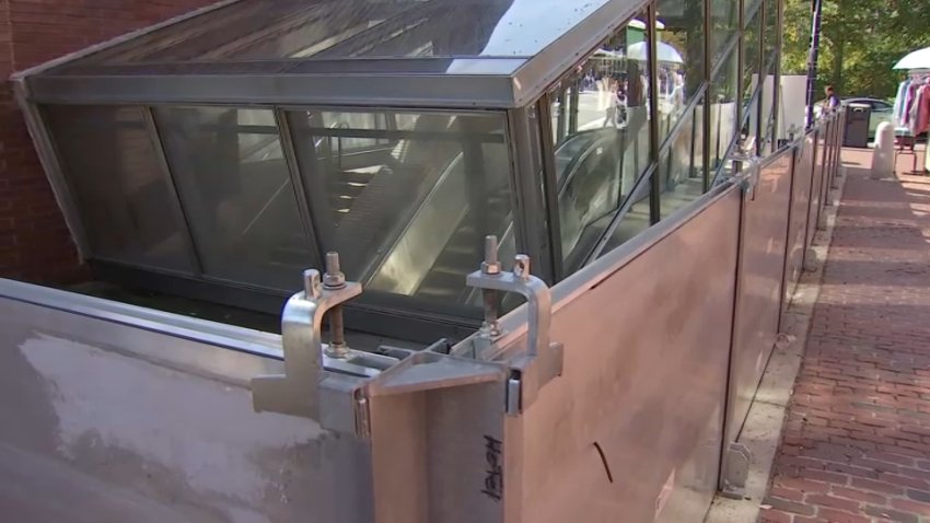
[[[665,138],[704,84],[702,0],[660,0],[659,137]]]

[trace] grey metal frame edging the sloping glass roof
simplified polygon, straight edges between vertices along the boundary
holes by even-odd
[[[362,105],[442,108],[519,108],[584,58],[639,9],[608,0],[535,56],[268,59],[153,66],[61,66],[236,3],[223,2],[16,74],[33,103]]]

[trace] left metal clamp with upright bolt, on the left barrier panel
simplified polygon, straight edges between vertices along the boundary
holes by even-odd
[[[326,274],[309,269],[303,290],[288,300],[281,318],[284,374],[252,380],[256,411],[271,411],[321,419],[319,384],[323,380],[323,319],[329,313],[332,342],[328,358],[349,353],[342,326],[342,303],[362,293],[361,283],[347,282],[339,270],[339,255],[326,255]]]

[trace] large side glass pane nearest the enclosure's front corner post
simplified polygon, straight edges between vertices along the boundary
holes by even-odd
[[[566,274],[581,266],[650,164],[644,19],[605,42],[551,96]]]

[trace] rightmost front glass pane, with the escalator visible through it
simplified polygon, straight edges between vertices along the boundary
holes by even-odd
[[[515,254],[502,114],[333,109],[289,119],[316,233],[367,292],[473,303],[465,276],[484,237]]]

